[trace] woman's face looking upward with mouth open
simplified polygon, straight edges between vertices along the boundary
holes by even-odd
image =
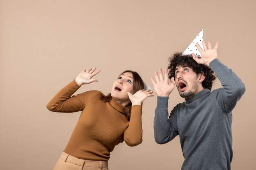
[[[113,83],[111,90],[112,98],[121,105],[126,106],[130,102],[127,92],[132,92],[132,85],[132,73],[126,72],[121,74]]]

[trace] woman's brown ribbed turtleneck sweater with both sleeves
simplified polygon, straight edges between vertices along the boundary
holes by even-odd
[[[47,104],[54,112],[82,111],[64,152],[78,159],[108,161],[110,152],[125,141],[128,146],[142,142],[141,105],[132,106],[130,121],[125,107],[114,99],[103,102],[100,91],[87,91],[76,96],[80,86],[75,81],[61,89]]]

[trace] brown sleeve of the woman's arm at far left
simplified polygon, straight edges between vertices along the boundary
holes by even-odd
[[[53,112],[71,113],[83,110],[87,102],[88,94],[81,93],[72,96],[80,86],[73,80],[62,88],[47,104],[47,109]],[[87,96],[87,97],[85,97]]]

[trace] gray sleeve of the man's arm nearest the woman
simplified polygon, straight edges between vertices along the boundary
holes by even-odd
[[[176,107],[168,114],[168,97],[157,97],[154,137],[157,144],[166,144],[178,135]]]

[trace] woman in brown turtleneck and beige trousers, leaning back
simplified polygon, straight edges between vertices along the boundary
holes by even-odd
[[[99,72],[95,67],[82,71],[47,104],[54,112],[82,111],[54,170],[108,170],[110,152],[117,144],[142,142],[141,105],[153,92],[144,90],[138,73],[121,73],[107,96],[87,91],[71,97],[81,85],[98,81],[92,77]]]

